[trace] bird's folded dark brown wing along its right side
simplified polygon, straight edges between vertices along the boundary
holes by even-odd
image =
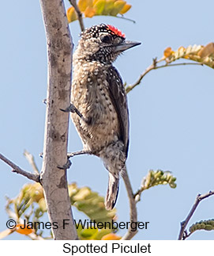
[[[127,97],[125,88],[122,83],[122,78],[113,66],[109,67],[109,70],[107,71],[107,82],[109,84],[111,101],[115,106],[116,112],[118,113],[118,120],[120,124],[120,139],[124,143],[124,152],[127,156],[130,128]]]

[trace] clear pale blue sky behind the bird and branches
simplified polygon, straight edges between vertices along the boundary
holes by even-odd
[[[131,84],[168,46],[177,49],[214,40],[214,2],[129,0],[133,8],[126,17],[85,19],[89,27],[115,25],[129,40],[141,46],[122,55],[115,63],[124,82]],[[66,6],[68,2],[66,2]],[[35,155],[39,168],[47,89],[46,39],[39,1],[3,1],[0,10],[0,151],[25,170],[31,170],[23,151]],[[80,32],[77,21],[69,25],[74,44]],[[177,188],[157,186],[143,193],[137,204],[138,220],[149,221],[147,231],[135,239],[177,239],[179,224],[197,196],[214,189],[214,71],[210,67],[168,67],[152,71],[128,94],[130,151],[128,172],[136,191],[149,169],[171,170]],[[70,122],[69,151],[81,150],[81,140]],[[16,197],[26,178],[11,173],[0,161],[0,231],[6,229],[5,196]],[[105,195],[107,171],[96,157],[78,156],[68,171],[69,182],[88,185]],[[126,190],[121,181],[118,221],[129,221]],[[82,214],[74,210],[74,217]],[[214,197],[202,201],[191,223],[214,218]],[[118,233],[122,235],[123,232]],[[13,234],[8,239],[25,239]],[[190,239],[214,239],[214,231],[197,231]]]

